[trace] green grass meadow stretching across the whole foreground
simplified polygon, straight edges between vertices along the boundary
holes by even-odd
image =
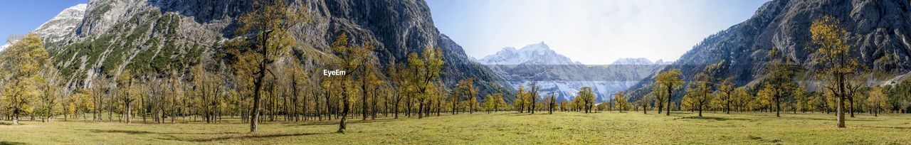
[[[425,119],[350,119],[346,134],[337,119],[306,123],[124,124],[90,121],[23,121],[0,124],[0,141],[35,144],[905,144],[911,115],[862,114],[834,128],[834,114],[555,112],[548,115],[475,113]],[[404,117],[403,117],[404,118]],[[26,118],[28,119],[28,118]],[[107,119],[107,117],[106,117]],[[138,121],[141,122],[141,119]]]

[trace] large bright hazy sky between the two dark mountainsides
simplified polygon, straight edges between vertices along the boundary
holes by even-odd
[[[440,32],[481,58],[545,42],[583,64],[675,60],[768,0],[427,0]]]

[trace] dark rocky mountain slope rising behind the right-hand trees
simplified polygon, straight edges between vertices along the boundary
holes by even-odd
[[[692,78],[706,65],[722,63],[717,78],[734,78],[738,86],[750,87],[762,80],[763,68],[770,61],[767,54],[775,47],[800,67],[807,68],[798,74],[807,77],[816,71],[812,62],[817,56],[809,27],[815,19],[833,16],[847,30],[848,44],[858,50],[851,55],[867,68],[865,75],[876,72],[875,76],[879,76],[871,77],[868,82],[875,85],[885,82],[882,80],[895,80],[892,78],[911,70],[909,3],[906,0],[773,0],[746,21],[706,37],[662,70],[679,68],[683,78]],[[638,98],[648,89],[650,81],[643,81],[630,91],[636,92],[633,97]]]

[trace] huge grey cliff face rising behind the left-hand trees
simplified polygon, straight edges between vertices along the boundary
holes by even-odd
[[[219,52],[235,36],[237,18],[249,11],[249,0],[90,0],[84,18],[69,41],[51,48],[51,58],[71,87],[86,86],[91,78],[111,78],[125,68],[156,75],[189,75],[187,67],[200,57]],[[443,80],[479,78],[482,94],[508,91],[486,67],[472,63],[464,50],[434,26],[429,7],[421,0],[347,1],[296,0],[310,21],[293,26],[293,35],[306,52],[307,71],[322,70],[320,57],[333,57],[329,47],[341,34],[352,45],[374,43],[377,66],[404,63],[409,53],[424,47],[443,50]],[[305,10],[305,11],[304,11]],[[312,73],[319,74],[319,73]],[[508,93],[508,92],[507,92]]]

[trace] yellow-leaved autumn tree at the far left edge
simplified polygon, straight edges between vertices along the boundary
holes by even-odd
[[[36,79],[47,61],[47,51],[41,37],[29,33],[0,55],[0,75],[4,80],[3,98],[12,109],[13,124],[19,124],[19,115],[31,109],[40,92],[36,91]]]

